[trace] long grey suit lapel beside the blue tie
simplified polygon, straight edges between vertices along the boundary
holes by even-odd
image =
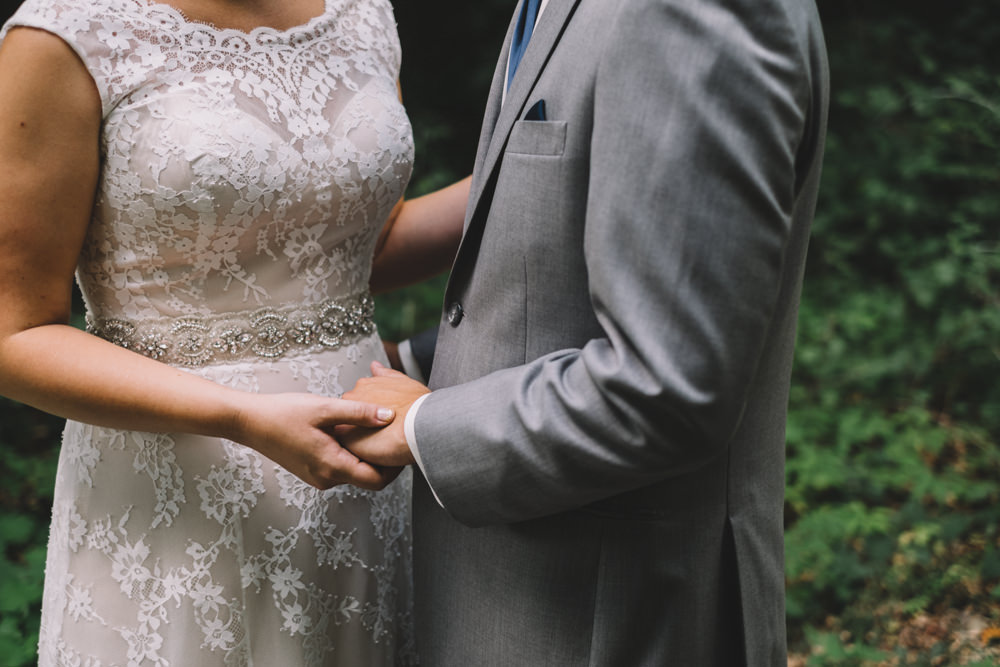
[[[521,117],[528,95],[534,88],[545,63],[548,62],[552,49],[559,41],[563,28],[579,1],[549,0],[545,12],[539,18],[538,25],[535,26],[531,35],[531,41],[528,42],[528,48],[518,66],[517,74],[511,82],[510,90],[507,91],[507,98],[501,106],[503,86],[506,80],[507,57],[510,53],[511,37],[520,12],[520,4],[518,4],[518,10],[514,12],[514,18],[507,30],[507,38],[504,40],[503,50],[500,53],[500,61],[497,63],[493,75],[493,85],[484,114],[483,131],[479,138],[479,151],[473,170],[476,176],[469,193],[466,228],[474,218],[474,212],[483,197],[486,184],[490,182],[490,176],[496,168],[504,146],[507,144],[507,137],[510,135],[514,123]]]

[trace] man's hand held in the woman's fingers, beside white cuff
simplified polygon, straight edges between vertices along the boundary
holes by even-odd
[[[372,465],[397,467],[413,463],[403,424],[413,402],[427,393],[430,390],[416,380],[373,362],[372,377],[358,380],[344,398],[391,407],[396,411],[396,418],[380,429],[349,427],[338,430],[338,440],[344,448]]]

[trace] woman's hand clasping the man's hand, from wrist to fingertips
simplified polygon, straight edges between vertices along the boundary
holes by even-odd
[[[386,408],[312,394],[247,394],[232,439],[252,447],[320,489],[353,484],[384,488],[398,468],[365,463],[331,435],[341,424],[381,427],[393,420]]]

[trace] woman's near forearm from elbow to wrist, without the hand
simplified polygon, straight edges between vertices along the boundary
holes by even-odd
[[[0,394],[99,426],[229,439],[250,396],[61,324],[0,339]]]

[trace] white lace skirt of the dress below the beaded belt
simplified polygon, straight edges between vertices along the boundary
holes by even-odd
[[[339,396],[376,335],[191,369],[242,390]],[[410,476],[319,491],[239,444],[68,422],[39,664],[413,664]]]

